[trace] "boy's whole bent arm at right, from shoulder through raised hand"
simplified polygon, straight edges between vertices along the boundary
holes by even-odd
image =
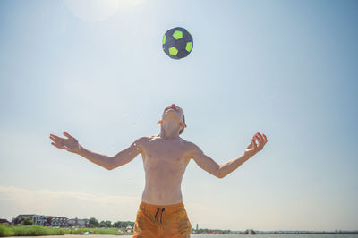
[[[256,145],[255,140],[259,140],[259,146]],[[221,165],[218,165],[212,158],[206,156],[197,145],[192,143],[192,158],[198,166],[208,173],[213,174],[218,178],[224,178],[227,174],[230,174],[236,168],[243,165],[243,162],[259,152],[267,141],[265,135],[262,137],[260,133],[256,133],[253,136],[251,143],[240,157],[236,157]]]

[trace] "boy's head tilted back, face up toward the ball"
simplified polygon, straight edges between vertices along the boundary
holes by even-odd
[[[179,134],[183,133],[183,130],[186,127],[183,109],[179,106],[175,106],[175,104],[167,106],[164,109],[162,119],[158,124],[160,123],[177,124],[180,127]]]

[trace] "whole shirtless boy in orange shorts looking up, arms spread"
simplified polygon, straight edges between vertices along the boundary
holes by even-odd
[[[190,160],[193,159],[209,174],[224,178],[263,149],[268,140],[265,134],[261,135],[257,132],[240,157],[218,165],[196,144],[179,137],[186,127],[181,107],[175,104],[167,106],[158,124],[160,124],[160,133],[143,136],[133,141],[131,146],[114,157],[107,157],[83,148],[67,132],[64,132],[67,139],[53,134],[50,134],[50,139],[54,141],[51,144],[55,147],[86,157],[107,170],[124,166],[141,154],[145,188],[137,211],[133,237],[190,237],[192,225],[184,209],[181,191],[183,174]]]

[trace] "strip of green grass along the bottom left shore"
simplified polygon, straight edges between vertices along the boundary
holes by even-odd
[[[64,234],[83,234],[92,231],[92,234],[115,234],[122,235],[118,232],[120,228],[49,228],[41,225],[9,225],[0,224],[0,236],[38,236],[38,235],[64,235]],[[128,233],[129,234],[129,233]]]

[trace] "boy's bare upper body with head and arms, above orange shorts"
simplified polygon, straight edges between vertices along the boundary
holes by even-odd
[[[258,132],[240,157],[218,165],[197,145],[179,137],[186,127],[182,108],[175,104],[166,107],[162,120],[158,123],[161,124],[161,132],[158,135],[141,137],[114,157],[107,157],[83,148],[67,132],[64,132],[64,135],[68,139],[53,134],[50,135],[50,139],[54,140],[55,143],[52,144],[55,147],[77,153],[108,170],[124,166],[141,154],[145,172],[145,188],[141,200],[153,205],[183,202],[181,184],[186,166],[191,159],[209,174],[223,178],[260,151],[268,141],[264,134]],[[259,141],[259,145],[256,145],[256,140]]]

